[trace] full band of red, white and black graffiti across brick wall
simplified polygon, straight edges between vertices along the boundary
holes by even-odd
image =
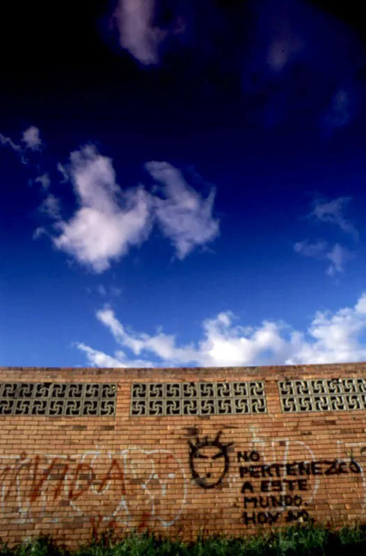
[[[120,527],[169,528],[186,507],[188,466],[193,516],[198,515],[195,498],[209,498],[211,492],[212,499],[212,489],[221,489],[223,504],[212,509],[216,519],[227,511],[230,497],[230,507],[237,508],[246,527],[314,521],[317,506],[312,504],[321,482],[330,487],[332,504],[342,480],[349,485],[344,504],[348,498],[353,509],[356,502],[351,497],[357,491],[360,509],[366,507],[366,441],[335,441],[335,457],[317,459],[300,440],[261,438],[254,429],[252,438],[244,445],[235,443],[235,449],[230,436],[223,436],[232,431],[220,430],[211,437],[196,427],[187,432],[178,450],[186,450],[188,442],[184,465],[174,450],[138,447],[116,452],[95,448],[74,455],[1,455],[1,517],[22,524],[65,519],[75,527],[87,523],[94,536]],[[318,496],[321,504],[326,502],[324,491]]]

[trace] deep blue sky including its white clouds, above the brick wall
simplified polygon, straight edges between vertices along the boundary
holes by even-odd
[[[0,364],[366,360],[362,40],[308,3],[129,1],[95,23],[110,79],[3,93]]]

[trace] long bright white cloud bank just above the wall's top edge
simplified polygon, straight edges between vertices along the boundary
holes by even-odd
[[[306,332],[266,320],[258,327],[241,327],[233,324],[231,311],[219,313],[202,322],[203,337],[196,345],[182,347],[176,345],[174,335],[127,332],[109,308],[98,311],[97,318],[121,347],[132,352],[132,359],[124,351],[110,357],[79,344],[93,366],[215,367],[366,360],[366,294],[353,307],[335,313],[318,311]],[[141,354],[148,358],[135,359]]]

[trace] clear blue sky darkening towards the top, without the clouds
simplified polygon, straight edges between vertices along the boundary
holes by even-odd
[[[95,318],[105,303],[126,327],[154,335],[161,325],[178,345],[198,342],[202,321],[221,311],[243,326],[284,320],[305,332],[316,311],[354,306],[366,270],[365,45],[354,14],[337,21],[315,3],[172,3],[186,34],[162,44],[159,65],[144,67],[108,31],[113,6],[92,4],[69,15],[65,5],[56,27],[33,16],[32,33],[17,30],[22,54],[3,71],[0,133],[17,142],[34,125],[45,148],[29,165],[0,149],[0,364],[84,366],[74,343],[113,354],[116,341]],[[168,17],[160,14],[157,21]],[[276,18],[285,22],[280,35]],[[294,51],[280,69],[268,62],[272,40]],[[49,172],[71,218],[75,195],[56,165],[86,143],[113,160],[122,189],[140,182],[151,190],[148,161],[179,168],[203,197],[214,186],[220,236],[208,251],[172,261],[155,228],[101,275],[49,238],[34,240],[49,224],[29,182]],[[344,218],[356,243],[303,218],[312,203],[339,197],[351,197]],[[319,238],[354,252],[344,272],[328,276],[324,259],[294,252],[296,242]],[[100,295],[101,284],[120,295]]]

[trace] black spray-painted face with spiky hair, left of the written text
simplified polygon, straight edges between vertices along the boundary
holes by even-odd
[[[195,431],[195,443],[189,441],[189,467],[193,480],[202,489],[214,489],[221,484],[229,471],[230,461],[228,448],[233,442],[224,444],[220,441],[222,431],[219,431],[214,440],[208,436],[200,440]]]

